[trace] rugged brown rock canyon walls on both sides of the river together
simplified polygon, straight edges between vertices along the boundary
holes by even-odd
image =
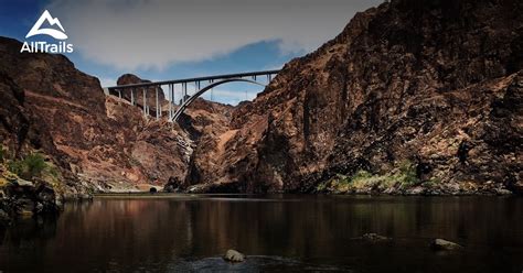
[[[105,96],[66,57],[20,54],[1,37],[1,143],[13,159],[46,154],[73,194],[168,181],[190,192],[519,192],[522,6],[385,2],[286,64],[254,101],[199,99],[174,124],[145,117],[129,94]]]

